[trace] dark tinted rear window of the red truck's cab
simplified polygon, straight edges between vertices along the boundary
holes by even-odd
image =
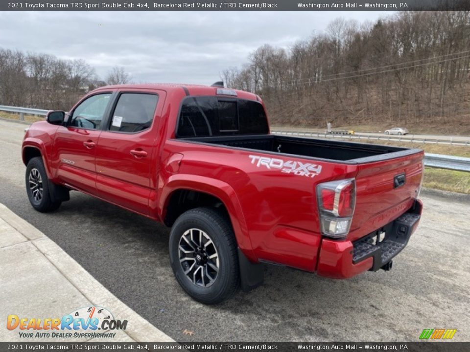
[[[206,137],[268,132],[266,114],[256,101],[220,97],[187,97],[176,135]]]

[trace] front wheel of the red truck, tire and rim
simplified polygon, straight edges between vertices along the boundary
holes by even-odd
[[[56,210],[62,203],[53,202],[49,194],[49,179],[40,156],[33,157],[26,166],[26,193],[34,209],[41,213]]]

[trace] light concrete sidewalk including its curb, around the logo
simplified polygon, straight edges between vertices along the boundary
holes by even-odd
[[[46,235],[0,203],[0,341],[173,341],[98,283]],[[82,307],[104,307],[126,330],[112,338],[20,337],[20,333],[68,330],[8,330],[10,314],[21,318],[62,317]],[[87,314],[88,315],[88,314]],[[92,332],[88,330],[87,332]],[[101,332],[101,331],[96,331]]]

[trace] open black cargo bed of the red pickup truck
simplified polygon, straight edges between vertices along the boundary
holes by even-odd
[[[290,154],[308,158],[320,158],[344,163],[364,163],[386,160],[421,152],[419,149],[392,147],[377,144],[288,137],[274,134],[236,135],[217,137],[179,138],[205,144],[218,144],[265,153]]]

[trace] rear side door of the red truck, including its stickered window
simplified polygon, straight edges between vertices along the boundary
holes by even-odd
[[[96,148],[97,195],[141,214],[148,214],[150,174],[164,92],[118,93]]]

